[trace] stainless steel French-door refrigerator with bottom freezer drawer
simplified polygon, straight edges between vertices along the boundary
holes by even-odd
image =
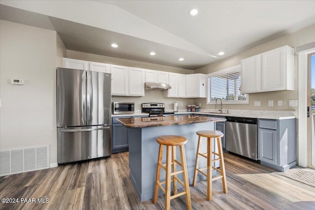
[[[111,74],[57,68],[58,163],[111,155]]]

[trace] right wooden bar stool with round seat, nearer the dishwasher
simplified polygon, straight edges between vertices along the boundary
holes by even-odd
[[[221,143],[221,137],[223,137],[223,133],[219,131],[211,131],[211,130],[199,130],[197,131],[198,138],[198,146],[197,146],[197,153],[196,153],[196,160],[195,160],[195,170],[193,174],[193,181],[192,186],[196,185],[197,182],[197,174],[200,172],[204,176],[207,177],[207,200],[212,200],[212,181],[222,179],[222,187],[223,192],[227,193],[227,185],[226,185],[226,176],[225,176],[225,168],[224,168],[224,159],[223,159],[223,150],[222,150],[222,143]],[[200,146],[202,137],[207,138],[207,152],[206,153],[200,153]],[[217,139],[218,149],[219,153],[212,151],[212,138]],[[219,156],[217,159],[212,159],[212,154],[215,154]],[[202,157],[207,158],[207,167],[199,169],[198,168],[198,160],[199,155]],[[212,166],[212,162],[220,161],[220,170],[216,167]],[[202,170],[207,169],[207,173],[204,173]],[[212,178],[212,169],[217,170],[221,176]]]

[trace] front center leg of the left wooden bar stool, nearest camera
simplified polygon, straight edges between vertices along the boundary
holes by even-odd
[[[171,208],[171,161],[172,146],[166,146],[165,210]]]

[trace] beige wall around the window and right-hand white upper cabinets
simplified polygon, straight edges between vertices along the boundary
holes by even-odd
[[[315,25],[307,27],[305,29],[299,30],[297,32],[288,34],[286,36],[280,37],[273,41],[264,43],[257,47],[246,50],[242,53],[234,55],[232,57],[220,60],[199,68],[195,70],[195,73],[208,74],[211,72],[219,71],[231,66],[239,65],[242,59],[284,46],[288,45],[292,48],[311,43],[315,41]],[[232,104],[224,105],[224,109],[242,109],[242,110],[292,110],[297,111],[297,107],[289,107],[289,99],[298,99],[298,58],[295,55],[295,90],[283,90],[283,91],[271,91],[271,92],[261,92],[261,93],[250,93],[249,104]],[[268,107],[268,100],[274,100],[274,106]],[[283,100],[283,106],[277,106],[277,100]],[[260,107],[254,107],[254,101],[260,101]],[[206,99],[195,99],[195,104],[206,104]],[[206,105],[202,108],[214,109],[215,105]]]

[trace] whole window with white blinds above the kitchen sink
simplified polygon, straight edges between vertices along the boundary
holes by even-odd
[[[241,94],[241,67],[233,66],[209,74],[207,104],[213,104],[221,98],[225,104],[249,103],[248,95]]]

